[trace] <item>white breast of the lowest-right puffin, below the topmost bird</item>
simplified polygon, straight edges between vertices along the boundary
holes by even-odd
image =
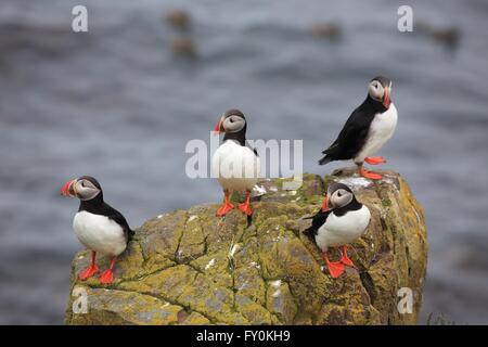
[[[317,245],[325,252],[331,246],[351,243],[364,233],[370,219],[370,209],[364,205],[360,209],[348,211],[344,216],[335,216],[331,213],[316,235]]]

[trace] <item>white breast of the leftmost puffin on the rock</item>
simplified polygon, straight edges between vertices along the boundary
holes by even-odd
[[[127,246],[123,228],[108,217],[85,210],[76,214],[73,229],[87,248],[108,256],[118,256]]]

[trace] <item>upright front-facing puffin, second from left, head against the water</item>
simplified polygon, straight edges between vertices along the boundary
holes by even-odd
[[[223,141],[214,153],[211,170],[223,190],[224,202],[217,210],[218,217],[226,216],[234,206],[230,202],[232,192],[246,192],[246,200],[239,209],[251,217],[251,192],[260,174],[260,160],[256,149],[246,144],[247,121],[235,108],[227,111],[217,123],[214,134],[223,132]]]

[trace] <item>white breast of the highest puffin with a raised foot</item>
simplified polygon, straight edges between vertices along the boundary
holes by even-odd
[[[397,127],[397,121],[398,113],[393,103],[389,105],[387,111],[376,114],[370,125],[370,131],[368,133],[364,146],[354,158],[355,163],[362,163],[365,157],[380,151],[394,134]]]

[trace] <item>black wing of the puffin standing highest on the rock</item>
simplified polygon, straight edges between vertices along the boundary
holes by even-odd
[[[322,151],[322,154],[325,154],[325,156],[319,160],[319,164],[325,165],[333,160],[354,158],[364,145],[374,115],[374,112],[369,112],[365,103],[356,108],[347,119],[334,143],[329,149]]]

